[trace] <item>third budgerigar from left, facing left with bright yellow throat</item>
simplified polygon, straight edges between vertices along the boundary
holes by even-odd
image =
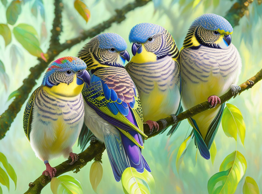
[[[180,103],[180,65],[177,62],[179,51],[173,37],[159,25],[140,23],[131,29],[129,41],[133,42],[134,56],[125,68],[138,89],[144,121],[150,130],[159,127],[153,121],[169,115],[173,115],[176,121],[176,115],[183,109]],[[161,121],[165,126],[165,120]],[[168,135],[178,125],[174,125]]]

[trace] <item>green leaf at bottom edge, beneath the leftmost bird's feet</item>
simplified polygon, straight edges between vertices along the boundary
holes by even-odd
[[[81,183],[69,175],[53,177],[50,187],[53,194],[83,194]]]

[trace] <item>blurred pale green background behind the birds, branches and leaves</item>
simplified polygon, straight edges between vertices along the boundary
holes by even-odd
[[[49,47],[50,30],[54,17],[53,1],[44,1],[45,22],[43,22],[40,14],[37,18],[32,16],[31,7],[33,2],[34,1],[30,1],[23,5],[22,13],[19,15],[16,24],[27,23],[34,26],[41,42],[40,47],[43,51],[46,51]],[[62,13],[63,32],[60,42],[74,38],[79,35],[82,29],[89,29],[108,19],[114,14],[114,9],[121,8],[128,2],[132,1],[86,0],[86,5],[88,5],[91,12],[91,18],[86,23],[73,8],[73,1],[64,1],[64,11]],[[180,49],[187,29],[196,17],[204,13],[215,13],[224,16],[234,3],[234,1],[230,0],[202,0],[197,6],[193,6],[195,5],[194,2],[196,4],[196,2],[199,1],[156,0],[154,2],[149,2],[145,6],[129,12],[122,23],[113,24],[113,26],[105,32],[116,32],[121,35],[126,40],[128,51],[131,54],[131,44],[128,42],[130,29],[140,22],[151,22],[165,27],[173,35]],[[5,10],[6,8],[0,3],[0,23],[6,23]],[[261,15],[262,5],[258,5],[258,1],[255,0],[249,5],[249,12],[240,20],[240,25],[234,27],[232,43],[240,52],[243,64],[238,84],[255,75],[262,67]],[[42,27],[43,25],[46,27],[47,34]],[[56,58],[68,55],[76,56],[79,49],[88,41],[89,40],[81,42],[70,50],[62,52]],[[23,59],[18,57],[18,62],[13,62],[11,65],[11,59],[14,57],[13,54],[10,53],[10,45],[12,44],[5,47],[5,42],[2,36],[0,36],[0,59],[4,63],[5,71],[9,77],[9,83],[5,80],[7,89],[5,89],[2,82],[0,83],[0,114],[2,114],[12,102],[12,100],[8,101],[8,95],[22,85],[23,79],[29,75],[30,67],[38,62],[36,57],[30,55],[23,49],[15,38],[12,38],[12,43],[20,48]],[[43,74],[41,78],[37,80],[37,85],[35,85],[33,90],[41,84],[42,77]],[[261,83],[262,82],[259,82],[254,85],[252,89],[243,92],[237,98],[229,101],[229,103],[236,105],[240,109],[244,117],[246,123],[245,147],[238,139],[237,150],[239,150],[247,160],[247,171],[245,176],[251,176],[255,179],[260,187],[260,192],[262,191]],[[0,141],[0,152],[5,154],[18,177],[16,190],[13,182],[10,182],[9,193],[24,193],[28,189],[29,182],[33,182],[45,169],[45,165],[41,160],[36,158],[24,134],[22,127],[24,108],[25,104],[22,106],[21,111],[12,123],[10,130],[6,133],[5,138]],[[220,125],[215,137],[217,156],[214,164],[212,165],[211,160],[203,159],[199,152],[197,153],[196,162],[196,149],[193,141],[191,141],[178,174],[175,165],[176,154],[180,144],[186,137],[186,133],[189,131],[191,131],[191,127],[188,122],[184,120],[172,137],[162,134],[146,140],[145,149],[142,153],[152,169],[152,175],[156,182],[154,193],[207,193],[207,182],[209,178],[213,174],[219,172],[219,166],[223,159],[236,148],[235,140],[233,138],[228,138]],[[73,147],[73,151],[76,153],[80,152],[77,144]],[[51,166],[56,166],[64,160],[65,159],[62,157],[52,159],[50,164]],[[106,152],[103,154],[102,162],[103,178],[98,186],[97,192],[99,194],[123,193],[121,182],[116,182],[113,177]],[[73,172],[66,173],[78,179],[82,183],[84,193],[90,194],[95,193],[89,182],[89,169],[91,164],[92,162],[89,162],[77,174]],[[0,164],[0,166],[1,165],[2,164]],[[241,180],[235,193],[242,193],[243,184],[244,180]],[[2,189],[3,193],[8,193],[5,186],[2,186]],[[52,193],[50,184],[45,186],[41,193]]]

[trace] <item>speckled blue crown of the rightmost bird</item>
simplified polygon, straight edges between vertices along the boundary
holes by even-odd
[[[207,30],[218,31],[220,34],[232,34],[233,27],[222,16],[216,14],[203,14],[192,23],[192,26],[202,26]]]

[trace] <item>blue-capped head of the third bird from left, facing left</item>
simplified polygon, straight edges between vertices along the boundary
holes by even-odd
[[[129,33],[129,41],[132,43],[132,61],[154,61],[170,55],[176,57],[178,50],[173,37],[160,25],[152,23],[140,23],[135,25]],[[141,55],[140,55],[141,54]]]

